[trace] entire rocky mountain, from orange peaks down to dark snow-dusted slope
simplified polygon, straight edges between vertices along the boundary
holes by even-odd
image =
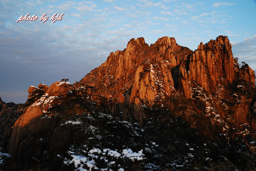
[[[0,100],[5,168],[255,167],[255,74],[225,36],[195,51],[170,37],[131,39],[79,82],[28,92],[24,104]]]

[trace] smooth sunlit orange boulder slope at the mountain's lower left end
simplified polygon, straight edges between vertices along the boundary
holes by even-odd
[[[17,154],[20,154],[17,153],[17,150],[21,147],[20,144],[26,142],[26,137],[29,138],[30,134],[34,134],[35,132],[40,133],[51,126],[52,121],[47,123],[45,120],[41,120],[41,118],[49,114],[48,109],[51,106],[59,103],[58,97],[65,96],[68,91],[73,90],[73,87],[70,83],[57,81],[49,86],[49,88],[43,84],[39,84],[38,88],[30,86],[28,92],[31,96],[39,89],[43,89],[46,93],[26,108],[26,112],[19,117],[12,131],[9,132],[11,135],[7,151],[14,155],[15,158],[17,158]]]

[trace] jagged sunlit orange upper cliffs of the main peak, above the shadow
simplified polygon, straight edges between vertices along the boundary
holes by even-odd
[[[95,88],[93,100],[99,104],[105,97],[107,111],[115,113],[120,108],[123,119],[132,115],[142,124],[145,112],[137,105],[150,107],[177,91],[189,99],[193,87],[211,93],[239,79],[255,87],[254,71],[250,67],[239,69],[225,36],[200,43],[195,51],[177,45],[173,37],[159,38],[150,46],[140,37],[131,39],[123,51],[111,52],[107,61],[81,83]]]

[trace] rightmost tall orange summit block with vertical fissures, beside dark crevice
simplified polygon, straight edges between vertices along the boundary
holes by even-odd
[[[231,44],[227,37],[217,37],[206,45],[202,42],[189,61],[192,80],[197,81],[207,91],[214,91],[220,83],[232,83],[237,79],[239,68],[234,61]]]

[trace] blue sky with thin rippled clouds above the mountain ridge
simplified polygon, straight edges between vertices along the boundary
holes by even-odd
[[[17,23],[28,13],[38,20]],[[63,19],[52,23],[55,13]],[[131,38],[175,37],[194,50],[218,35],[255,70],[256,0],[0,0],[0,97],[24,103],[30,85],[79,81]]]

